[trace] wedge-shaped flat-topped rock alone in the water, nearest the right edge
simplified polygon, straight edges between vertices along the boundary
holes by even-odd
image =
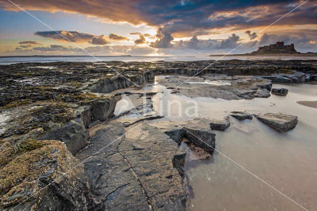
[[[268,126],[283,132],[294,128],[298,122],[297,116],[283,113],[264,113],[254,115]]]

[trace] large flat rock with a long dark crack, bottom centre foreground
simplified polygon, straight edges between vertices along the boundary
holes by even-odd
[[[184,210],[186,154],[173,140],[147,123],[94,130],[90,146],[76,157],[92,156],[84,164],[93,195],[106,210]]]

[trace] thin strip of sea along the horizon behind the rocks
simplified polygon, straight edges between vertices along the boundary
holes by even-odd
[[[53,61],[197,61],[197,60],[289,60],[289,59],[317,59],[317,56],[8,56],[0,57],[0,64],[13,64],[20,62],[53,62]]]

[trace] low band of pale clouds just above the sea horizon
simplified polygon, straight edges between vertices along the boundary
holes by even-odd
[[[311,36],[316,35],[317,31],[310,31]],[[143,35],[141,35],[142,37]],[[140,39],[141,39],[140,37]],[[169,38],[168,38],[169,37]],[[317,36],[315,36],[317,37]],[[203,55],[207,56],[212,53],[227,53],[242,44],[239,36],[236,34],[232,34],[226,39],[199,39],[196,35],[194,35],[190,40],[180,40],[173,41],[171,43],[172,37],[170,35],[166,35],[163,31],[158,32],[159,41],[165,39],[169,41],[168,48],[151,48],[147,46],[92,46],[85,48],[85,51],[92,53],[94,55],[147,55],[153,53],[163,53],[163,54],[175,54],[175,55]],[[168,39],[167,39],[168,38]],[[143,38],[142,38],[143,39]],[[139,39],[138,39],[139,40]],[[314,51],[313,49],[317,48],[316,39],[312,40],[305,36],[305,33],[300,31],[293,31],[293,34],[285,33],[285,34],[263,34],[258,40],[249,41],[244,43],[242,48],[237,49],[237,51],[233,53],[249,53],[251,51],[257,50],[258,47],[263,45],[274,44],[276,41],[284,41],[285,44],[294,43],[296,50],[300,52]],[[152,43],[153,45],[159,45],[159,41],[156,43]],[[162,44],[162,43],[160,43]],[[248,49],[246,51],[246,49]],[[303,50],[307,49],[307,51]],[[13,51],[6,51],[6,53],[11,54],[74,54],[74,55],[86,55],[79,48],[73,47],[65,47],[62,45],[51,45],[48,47],[34,47],[34,48],[19,48],[17,47]]]

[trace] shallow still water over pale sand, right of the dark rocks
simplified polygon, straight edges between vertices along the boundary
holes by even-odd
[[[234,110],[297,115],[298,125],[286,133],[275,131],[256,118],[239,121],[230,117],[229,128],[215,131],[216,149],[312,210],[317,207],[317,109],[296,102],[317,100],[317,86],[275,84],[273,87],[288,88],[288,95],[232,101],[196,98],[199,116],[222,118]],[[156,111],[165,106],[160,101],[177,99],[186,106],[187,97],[172,95],[158,86],[151,90],[163,92],[161,97],[153,97]],[[172,109],[171,116],[165,119],[180,121],[186,116],[179,117],[178,110]],[[191,150],[186,143],[181,147],[187,152]],[[197,159],[189,153],[185,170],[194,193],[187,201],[187,210],[300,210],[299,206],[216,152],[211,159]]]

